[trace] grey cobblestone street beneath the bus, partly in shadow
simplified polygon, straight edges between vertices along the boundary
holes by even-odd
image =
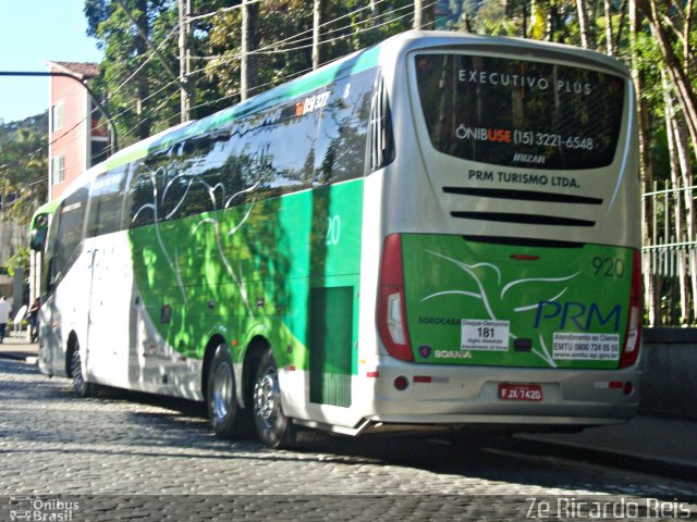
[[[327,437],[299,450],[272,451],[252,437],[216,438],[199,405],[118,390],[76,399],[69,381],[11,360],[0,360],[0,492],[13,496],[697,498],[697,485],[688,482],[526,456],[496,439]],[[347,498],[335,501],[355,506]]]

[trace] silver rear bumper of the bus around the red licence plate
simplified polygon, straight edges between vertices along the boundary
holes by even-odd
[[[599,371],[399,363],[382,365],[377,375],[374,411],[366,418],[382,423],[588,426],[624,422],[639,406],[636,365]],[[404,380],[406,387],[398,389]],[[501,389],[510,386],[536,395],[503,399]]]

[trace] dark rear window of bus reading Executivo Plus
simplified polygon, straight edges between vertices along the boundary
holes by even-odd
[[[440,152],[534,169],[612,163],[623,78],[509,58],[418,54],[415,60],[424,117]]]

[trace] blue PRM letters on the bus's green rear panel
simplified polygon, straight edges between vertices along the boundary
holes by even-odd
[[[620,304],[615,304],[610,311],[603,313],[595,302],[588,306],[585,302],[575,301],[540,301],[537,303],[535,314],[535,330],[539,328],[540,323],[545,321],[554,323],[553,326],[559,330],[574,327],[583,332],[597,331],[599,326],[611,324],[612,331],[617,332],[621,314]]]

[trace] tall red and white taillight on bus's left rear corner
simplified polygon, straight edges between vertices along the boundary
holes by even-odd
[[[392,357],[413,361],[412,344],[406,324],[402,239],[392,234],[384,239],[378,282],[378,332]]]

